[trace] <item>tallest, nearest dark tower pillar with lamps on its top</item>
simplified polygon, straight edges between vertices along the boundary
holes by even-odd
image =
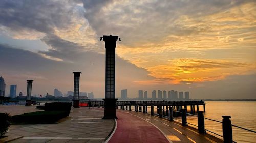
[[[116,41],[118,36],[103,35],[100,38],[105,42],[106,49],[106,69],[105,69],[105,99],[104,100],[104,117],[103,119],[115,119],[116,101],[115,98],[115,68],[116,68]]]

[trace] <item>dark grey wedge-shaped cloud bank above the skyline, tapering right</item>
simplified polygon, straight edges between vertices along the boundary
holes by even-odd
[[[7,87],[10,84],[18,84],[19,90],[25,91],[24,81],[32,78],[35,80],[33,93],[51,93],[54,88],[59,88],[63,92],[72,90],[72,72],[80,71],[81,91],[93,91],[97,97],[103,98],[105,55],[81,51],[73,53],[71,57],[72,63],[54,61],[44,58],[39,53],[0,45],[0,67],[4,67],[1,68],[0,75],[5,78]],[[135,81],[151,79],[154,78],[148,76],[148,71],[117,56],[117,93],[121,88],[136,86]]]

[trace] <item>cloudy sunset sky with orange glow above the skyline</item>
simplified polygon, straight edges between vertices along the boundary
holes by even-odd
[[[0,1],[0,76],[26,95],[73,90],[104,98],[103,35],[118,35],[116,97],[127,89],[192,99],[256,98],[256,2]]]

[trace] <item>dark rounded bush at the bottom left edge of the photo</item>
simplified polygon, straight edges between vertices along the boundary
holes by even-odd
[[[11,116],[7,113],[0,113],[0,136],[5,135],[11,124]]]

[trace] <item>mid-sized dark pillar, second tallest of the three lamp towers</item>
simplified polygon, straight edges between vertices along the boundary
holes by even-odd
[[[73,72],[74,74],[74,96],[73,96],[73,108],[79,108],[79,83],[81,72]]]

